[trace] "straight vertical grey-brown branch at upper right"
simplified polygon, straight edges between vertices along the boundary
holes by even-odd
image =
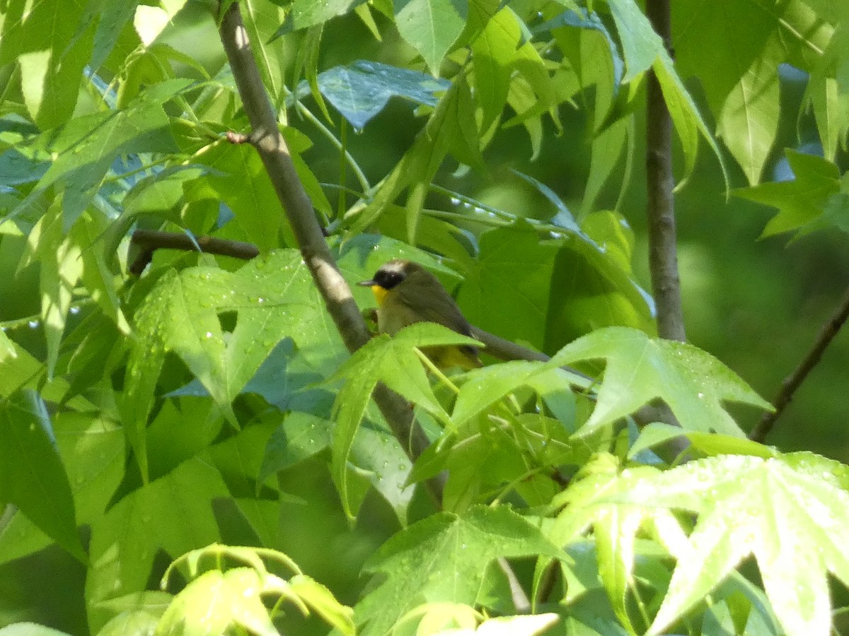
[[[647,0],[646,15],[672,55],[669,0]],[[672,190],[672,117],[666,108],[661,84],[649,70],[646,92],[645,171],[649,217],[649,271],[657,304],[657,332],[661,338],[687,340],[678,277],[678,245],[675,237],[675,201]]]

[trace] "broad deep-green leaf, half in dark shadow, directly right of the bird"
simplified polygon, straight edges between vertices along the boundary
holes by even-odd
[[[582,232],[542,241],[525,221],[485,232],[457,295],[473,325],[551,351],[598,326],[652,327],[645,293]]]

